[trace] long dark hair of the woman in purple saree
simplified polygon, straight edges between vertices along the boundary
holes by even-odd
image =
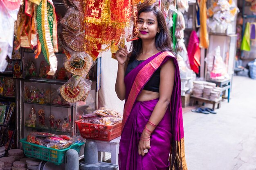
[[[160,28],[160,32],[157,33],[157,35],[155,36],[155,45],[157,50],[173,52],[170,31],[167,29],[166,21],[162,11],[160,11],[158,7],[153,5],[146,6],[139,10],[138,17],[142,12],[151,12],[151,11],[153,11],[154,15],[156,16],[158,27]],[[141,46],[142,46],[142,43],[140,38],[138,40],[132,41],[131,50],[133,53],[131,56],[131,60],[134,60],[137,57],[137,55],[141,50]]]

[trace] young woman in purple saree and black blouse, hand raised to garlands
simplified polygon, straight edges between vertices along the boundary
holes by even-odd
[[[115,91],[126,100],[119,170],[186,170],[180,72],[171,37],[157,7],[144,7],[138,16],[132,52],[125,46],[116,53]]]

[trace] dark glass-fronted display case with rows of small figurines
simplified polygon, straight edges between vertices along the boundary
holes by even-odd
[[[63,63],[65,54],[56,53],[58,69],[54,76],[46,75],[47,64],[43,54],[34,59],[34,53],[22,51],[25,79],[20,79],[20,139],[30,131],[50,132],[74,136],[76,104],[71,106],[58,88],[71,77]]]

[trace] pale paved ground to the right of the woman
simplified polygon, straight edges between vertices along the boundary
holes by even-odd
[[[234,77],[216,111],[183,115],[188,170],[256,170],[256,80]]]

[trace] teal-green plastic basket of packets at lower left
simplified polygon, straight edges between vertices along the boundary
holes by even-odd
[[[61,163],[64,163],[65,153],[67,152],[67,150],[74,149],[79,153],[81,146],[85,144],[84,142],[80,144],[72,144],[68,148],[58,150],[58,149],[47,148],[45,146],[29,143],[27,142],[27,138],[20,139],[20,142],[22,143],[24,154],[27,157],[32,157],[32,158],[52,162],[56,165],[60,165]]]

